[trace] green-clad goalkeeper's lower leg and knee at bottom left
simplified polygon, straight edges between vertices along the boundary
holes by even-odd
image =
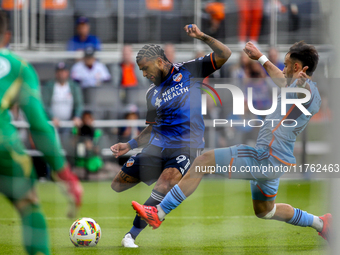
[[[41,212],[34,190],[14,203],[20,213],[23,227],[24,246],[28,254],[50,254],[49,238],[44,215]]]

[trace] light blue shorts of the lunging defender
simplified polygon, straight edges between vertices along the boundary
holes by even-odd
[[[275,200],[279,178],[284,172],[277,171],[282,164],[270,156],[268,147],[255,149],[240,144],[214,152],[216,173],[227,174],[229,179],[250,180],[253,200]]]

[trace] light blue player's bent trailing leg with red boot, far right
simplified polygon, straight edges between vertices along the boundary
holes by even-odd
[[[275,201],[253,200],[254,211],[261,219],[285,221],[300,227],[312,227],[320,236],[329,241],[331,214],[315,216],[288,204],[275,204]]]

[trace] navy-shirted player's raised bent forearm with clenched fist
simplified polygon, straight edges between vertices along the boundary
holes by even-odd
[[[186,25],[184,30],[192,37],[205,42],[215,53],[217,68],[220,68],[231,56],[231,50],[219,40],[203,33],[195,24]]]

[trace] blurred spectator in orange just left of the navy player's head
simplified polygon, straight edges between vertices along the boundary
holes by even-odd
[[[115,75],[113,85],[120,88],[120,97],[125,104],[135,103],[139,99],[137,89],[146,87],[146,79],[139,71],[138,65],[132,55],[131,45],[124,45],[122,50],[122,60],[113,66]]]

